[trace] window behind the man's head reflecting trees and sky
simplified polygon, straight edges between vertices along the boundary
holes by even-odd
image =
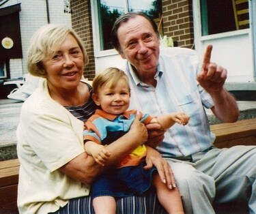
[[[100,51],[113,49],[111,29],[115,20],[125,12],[141,11],[154,18],[156,22],[159,22],[162,15],[162,1],[160,0],[97,0],[97,7]]]

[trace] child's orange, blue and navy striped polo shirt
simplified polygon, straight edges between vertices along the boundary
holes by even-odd
[[[97,109],[85,123],[85,130],[83,132],[83,140],[91,140],[98,144],[111,144],[121,136],[126,134],[130,125],[135,119],[137,110],[128,110],[123,114],[115,115],[104,112],[104,110]],[[140,121],[145,125],[150,123],[152,117],[149,114],[142,114],[140,112]],[[118,164],[117,168],[124,166],[137,166],[141,159],[146,155],[146,147],[144,144],[140,145],[130,155],[127,155]]]

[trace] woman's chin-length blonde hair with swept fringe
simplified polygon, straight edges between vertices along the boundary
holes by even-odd
[[[87,65],[89,58],[79,35],[65,25],[48,24],[40,27],[31,37],[27,53],[27,69],[30,74],[45,77],[42,62],[51,59],[56,54],[68,34],[71,34],[79,44],[83,52],[84,65]]]

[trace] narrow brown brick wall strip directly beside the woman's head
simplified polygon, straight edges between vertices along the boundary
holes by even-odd
[[[95,76],[94,44],[91,26],[91,5],[89,0],[72,0],[72,27],[85,44],[89,64],[85,67],[84,76],[92,80]]]

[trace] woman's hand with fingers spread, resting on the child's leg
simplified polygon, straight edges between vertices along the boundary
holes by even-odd
[[[144,167],[145,170],[156,166],[158,170],[159,177],[163,183],[166,183],[169,189],[175,188],[176,183],[171,170],[171,166],[168,162],[162,158],[160,153],[151,147],[147,147],[147,157],[145,159],[147,165]]]

